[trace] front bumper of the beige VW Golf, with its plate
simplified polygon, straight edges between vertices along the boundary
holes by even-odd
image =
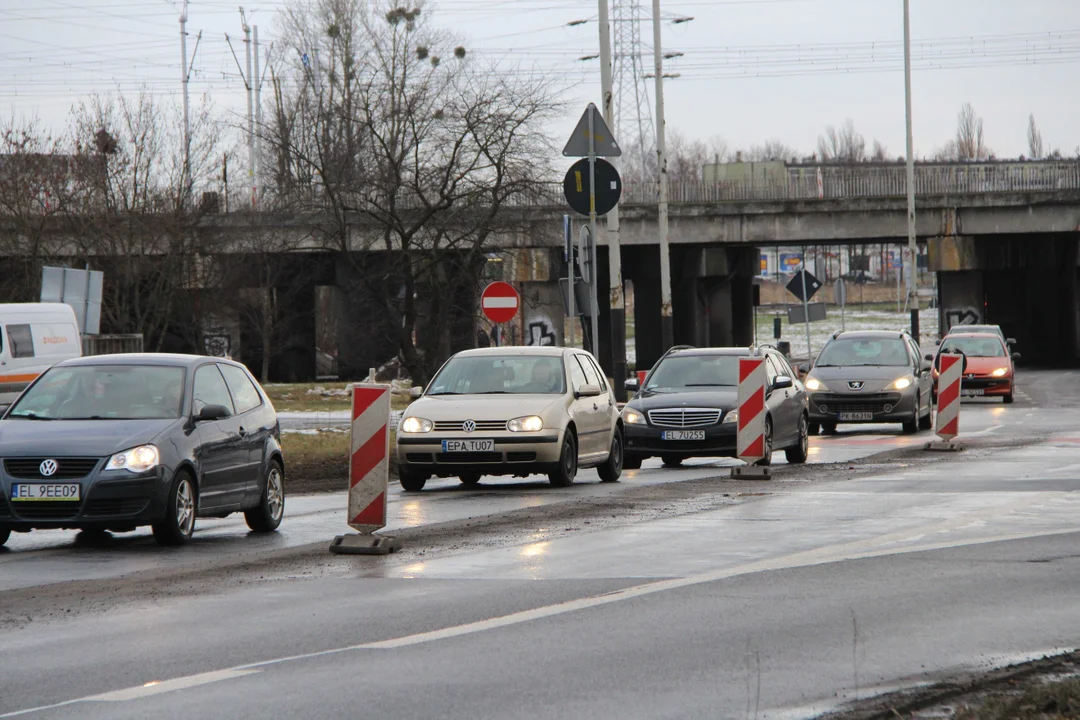
[[[443,440],[492,439],[490,452],[443,452]],[[397,466],[436,477],[461,473],[482,475],[531,475],[558,467],[562,435],[551,431],[526,433],[463,433],[399,435]]]

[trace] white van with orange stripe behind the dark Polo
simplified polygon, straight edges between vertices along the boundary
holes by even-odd
[[[82,338],[71,305],[0,303],[0,409],[50,367],[81,355]]]

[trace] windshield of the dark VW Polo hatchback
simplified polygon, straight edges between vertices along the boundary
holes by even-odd
[[[54,367],[12,406],[27,420],[175,419],[184,368],[149,365]]]

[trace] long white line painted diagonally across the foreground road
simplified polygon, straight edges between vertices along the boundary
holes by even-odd
[[[1063,495],[1068,493],[1052,493],[1052,494]],[[1035,501],[1032,500],[1031,502]],[[1031,503],[1026,503],[1026,504],[1031,504]],[[696,575],[688,575],[686,578],[676,578],[672,580],[645,583],[643,585],[634,585],[621,590],[605,593],[603,595],[595,595],[586,598],[581,598],[578,600],[568,600],[566,602],[558,602],[556,604],[544,606],[542,608],[535,608],[532,610],[515,612],[509,615],[502,615],[500,617],[491,617],[489,620],[483,620],[475,623],[467,623],[464,625],[455,625],[453,627],[446,627],[440,630],[418,633],[416,635],[407,635],[400,638],[391,638],[389,640],[363,642],[360,644],[333,648],[329,650],[321,650],[318,652],[302,653],[298,655],[288,655],[285,657],[275,657],[272,660],[260,661],[258,663],[238,665],[235,667],[226,668],[221,670],[213,670],[208,673],[200,673],[197,675],[173,678],[172,680],[165,680],[162,681],[161,683],[156,683],[156,684],[148,683],[145,685],[136,685],[134,688],[116,690],[97,695],[87,695],[85,697],[78,697],[69,701],[64,701],[62,703],[56,703],[53,705],[43,705],[40,707],[27,708],[24,710],[5,712],[3,715],[0,715],[0,719],[15,718],[21,716],[31,715],[35,712],[45,712],[49,710],[55,710],[63,707],[69,707],[78,703],[102,702],[102,701],[121,702],[121,701],[139,699],[141,697],[147,697],[149,695],[156,695],[159,693],[173,692],[176,690],[185,690],[211,682],[219,682],[224,680],[232,680],[241,677],[246,677],[248,675],[258,673],[262,668],[270,667],[273,665],[282,665],[284,663],[312,660],[315,657],[324,657],[327,655],[335,655],[346,652],[355,652],[362,650],[395,650],[399,648],[407,648],[411,646],[422,644],[426,642],[434,642],[436,640],[445,640],[448,638],[456,638],[465,635],[473,635],[476,633],[484,633],[487,630],[492,630],[501,627],[519,625],[523,623],[532,622],[535,620],[541,620],[544,617],[553,617],[555,615],[563,615],[570,612],[577,612],[579,610],[598,608],[615,602],[622,602],[623,600],[630,600],[633,598],[654,595],[657,593],[664,593],[667,590],[680,589],[684,587],[692,587],[694,585],[714,583],[720,580],[727,580],[739,575],[746,575],[758,572],[769,572],[774,570],[786,570],[791,568],[811,567],[816,565],[826,565],[829,562],[841,562],[848,560],[859,560],[859,559],[867,559],[875,557],[887,557],[891,555],[904,555],[908,553],[926,553],[930,551],[946,549],[950,547],[982,545],[986,543],[1007,542],[1011,540],[1023,540],[1027,538],[1044,538],[1050,535],[1061,535],[1061,534],[1068,534],[1071,532],[1076,532],[1075,529],[1045,530],[1039,532],[986,535],[983,538],[972,538],[969,540],[951,540],[951,541],[943,540],[936,542],[923,542],[922,544],[897,546],[899,543],[905,541],[912,542],[913,540],[920,540],[929,535],[939,534],[942,532],[948,532],[949,530],[956,528],[970,526],[973,519],[978,519],[980,517],[985,517],[993,514],[995,514],[995,508],[987,508],[977,513],[971,513],[960,517],[951,518],[943,522],[923,526],[921,528],[910,528],[908,530],[880,535],[878,538],[854,541],[850,543],[842,543],[839,545],[827,545],[824,547],[819,547],[810,551],[802,551],[799,553],[793,553],[791,555],[770,558],[767,560],[748,562],[746,565],[735,566],[733,568],[726,568],[723,570],[714,570],[711,572],[699,573]]]

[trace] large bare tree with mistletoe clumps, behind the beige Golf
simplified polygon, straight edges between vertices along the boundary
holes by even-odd
[[[295,57],[318,47],[320,66],[284,70],[264,128],[278,185],[315,179],[303,207],[378,318],[368,340],[423,382],[453,343],[471,343],[487,252],[550,171],[551,83],[473,58],[422,8],[388,0],[297,1],[286,42]]]

